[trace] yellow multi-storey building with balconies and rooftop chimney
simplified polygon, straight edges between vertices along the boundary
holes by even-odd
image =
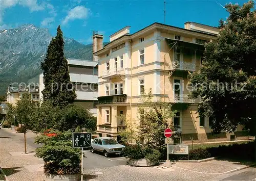
[[[177,143],[227,141],[245,139],[241,129],[235,133],[211,134],[211,119],[198,118],[199,99],[190,99],[187,75],[198,71],[208,41],[215,41],[219,29],[195,22],[183,28],[153,23],[130,34],[124,27],[110,36],[102,46],[102,35],[93,36],[94,59],[98,60],[97,132],[117,138],[126,128],[118,120],[138,120],[138,106],[143,92],[152,89],[153,101],[166,101],[177,110],[173,122],[182,136]]]

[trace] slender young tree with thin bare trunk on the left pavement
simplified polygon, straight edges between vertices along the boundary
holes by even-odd
[[[33,125],[35,108],[36,106],[31,100],[31,95],[28,93],[22,95],[22,98],[17,101],[15,107],[16,120],[19,124],[22,124],[17,131],[24,133],[25,153],[27,153],[26,132],[28,129],[31,129]]]

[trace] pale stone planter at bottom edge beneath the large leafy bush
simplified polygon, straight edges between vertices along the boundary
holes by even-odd
[[[42,180],[44,181],[79,181],[81,179],[81,174],[74,175],[46,175],[44,174]]]

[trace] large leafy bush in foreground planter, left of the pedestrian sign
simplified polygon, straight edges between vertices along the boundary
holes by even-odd
[[[76,174],[81,172],[81,151],[72,147],[72,133],[56,133],[54,137],[40,135],[36,143],[42,146],[36,149],[35,156],[45,161],[44,172],[49,174]]]

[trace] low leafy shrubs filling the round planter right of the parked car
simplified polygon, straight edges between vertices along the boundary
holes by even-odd
[[[148,159],[151,162],[158,162],[161,153],[154,148],[145,147],[142,144],[128,145],[124,148],[124,156],[131,160]]]

